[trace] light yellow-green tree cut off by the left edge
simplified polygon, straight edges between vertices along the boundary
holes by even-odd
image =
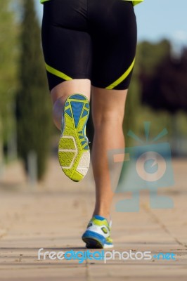
[[[14,122],[17,89],[18,23],[11,8],[14,0],[1,1],[0,9],[0,142],[6,145]]]

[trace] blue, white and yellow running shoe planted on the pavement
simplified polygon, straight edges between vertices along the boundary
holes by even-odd
[[[103,216],[93,216],[89,221],[85,233],[82,235],[82,240],[86,243],[86,248],[112,248],[112,238],[110,237],[111,226],[112,221],[108,223],[108,220],[103,218]]]

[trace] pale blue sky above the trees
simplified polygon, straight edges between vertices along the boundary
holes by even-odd
[[[42,5],[39,0],[36,4],[41,20]],[[144,0],[134,10],[138,41],[156,42],[166,38],[174,44],[187,45],[187,0]]]

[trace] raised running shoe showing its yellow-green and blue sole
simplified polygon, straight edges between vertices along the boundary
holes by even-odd
[[[63,129],[58,144],[58,160],[68,178],[81,181],[89,169],[89,141],[86,122],[89,117],[89,100],[80,94],[65,101]]]

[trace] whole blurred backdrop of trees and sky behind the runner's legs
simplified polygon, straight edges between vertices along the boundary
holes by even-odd
[[[127,136],[129,130],[146,141],[143,122],[151,122],[150,140],[166,128],[167,136],[160,141],[169,142],[173,159],[184,160],[187,2],[145,0],[135,11],[138,47],[124,119],[126,143],[138,145]],[[59,132],[51,121],[51,100],[41,53],[41,18],[39,0],[1,1],[0,186],[3,188],[44,183],[52,169],[60,169],[56,157]],[[91,118],[87,130],[91,140]]]

